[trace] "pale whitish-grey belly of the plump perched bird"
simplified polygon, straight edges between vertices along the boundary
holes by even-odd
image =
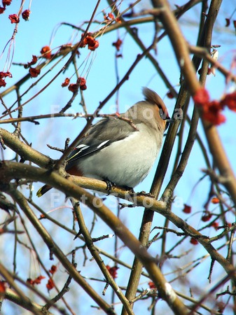
[[[116,141],[98,153],[80,162],[83,175],[96,179],[109,179],[117,186],[135,187],[150,171],[159,148],[152,139],[145,144],[133,139]],[[89,170],[89,172],[88,172]]]

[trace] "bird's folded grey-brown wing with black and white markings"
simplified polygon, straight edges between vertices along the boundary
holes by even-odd
[[[67,159],[66,170],[76,165],[76,161],[110,146],[114,141],[128,137],[134,129],[127,121],[118,118],[104,118],[92,126],[74,148]]]

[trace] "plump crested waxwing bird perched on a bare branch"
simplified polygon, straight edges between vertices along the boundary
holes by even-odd
[[[106,181],[108,190],[115,186],[133,190],[146,178],[158,157],[170,118],[156,92],[148,87],[142,92],[144,101],[90,127],[67,158],[67,173]],[[37,196],[50,188],[43,186]]]

